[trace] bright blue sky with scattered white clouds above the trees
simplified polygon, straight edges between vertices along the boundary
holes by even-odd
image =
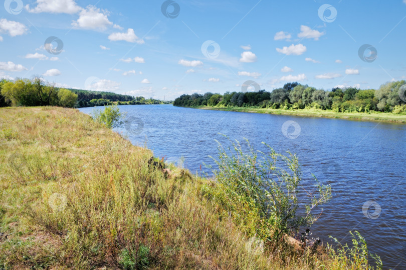
[[[240,91],[247,80],[272,90],[406,78],[406,0],[6,0],[0,8],[0,77],[160,99]]]

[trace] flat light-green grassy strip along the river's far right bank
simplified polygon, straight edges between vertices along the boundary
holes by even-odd
[[[210,110],[224,110],[224,111],[239,111],[239,112],[253,112],[253,113],[270,113],[276,115],[295,115],[305,117],[325,117],[325,118],[338,118],[349,120],[362,120],[362,121],[382,121],[394,123],[406,123],[406,115],[395,114],[391,112],[334,112],[331,110],[322,109],[272,109],[272,108],[250,108],[250,107],[211,107],[211,106],[198,106],[193,108],[210,109]]]

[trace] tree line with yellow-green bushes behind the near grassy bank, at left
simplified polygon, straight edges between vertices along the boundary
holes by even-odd
[[[5,106],[63,106],[92,107],[112,105],[162,104],[161,101],[143,96],[131,96],[105,91],[60,88],[40,77],[32,79],[0,80],[0,107]]]

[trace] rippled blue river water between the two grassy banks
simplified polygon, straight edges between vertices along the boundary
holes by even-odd
[[[314,174],[330,183],[333,198],[311,227],[314,237],[350,241],[358,230],[384,268],[406,269],[406,125],[318,117],[215,111],[172,105],[121,105],[131,124],[116,130],[155,156],[200,173],[213,164],[216,139],[262,141],[296,153],[303,185]],[[91,113],[93,108],[81,108]]]

